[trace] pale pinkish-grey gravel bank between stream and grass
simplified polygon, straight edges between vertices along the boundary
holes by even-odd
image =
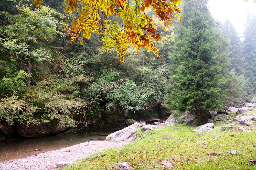
[[[106,142],[106,141],[90,141],[67,148],[48,151],[45,153],[28,156],[22,159],[0,162],[1,170],[48,170],[56,169],[55,162],[66,161],[74,162],[78,159],[88,157],[93,153],[107,149],[115,148],[130,142]]]

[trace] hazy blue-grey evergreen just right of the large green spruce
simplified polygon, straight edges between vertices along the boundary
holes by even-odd
[[[236,73],[241,75],[244,73],[244,57],[242,55],[242,43],[240,37],[228,19],[223,23],[221,31],[224,35],[228,36],[230,40],[229,58],[231,59],[231,65],[229,70],[235,69]]]

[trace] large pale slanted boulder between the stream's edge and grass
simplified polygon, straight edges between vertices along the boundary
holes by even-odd
[[[106,137],[104,141],[111,141],[111,142],[135,141],[137,138],[136,132],[138,131],[139,126],[141,126],[141,124],[138,122],[135,122],[131,126],[128,126],[127,128],[111,133]]]

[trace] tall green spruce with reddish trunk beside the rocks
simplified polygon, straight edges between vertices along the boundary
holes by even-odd
[[[203,112],[222,107],[228,95],[227,40],[220,35],[207,8],[207,0],[183,1],[182,22],[177,26],[176,50],[180,61],[169,103],[189,110],[203,121]]]

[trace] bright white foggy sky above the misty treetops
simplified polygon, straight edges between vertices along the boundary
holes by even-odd
[[[208,0],[212,16],[224,22],[226,19],[233,23],[237,32],[242,36],[247,13],[256,15],[256,3],[253,0]]]

